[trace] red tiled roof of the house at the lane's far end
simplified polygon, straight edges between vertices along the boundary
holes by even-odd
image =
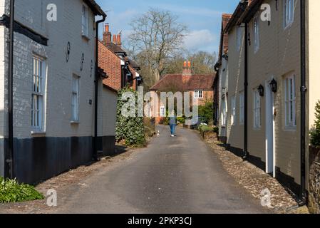
[[[213,90],[215,75],[192,75],[169,74],[162,78],[150,90],[183,92],[192,90]]]

